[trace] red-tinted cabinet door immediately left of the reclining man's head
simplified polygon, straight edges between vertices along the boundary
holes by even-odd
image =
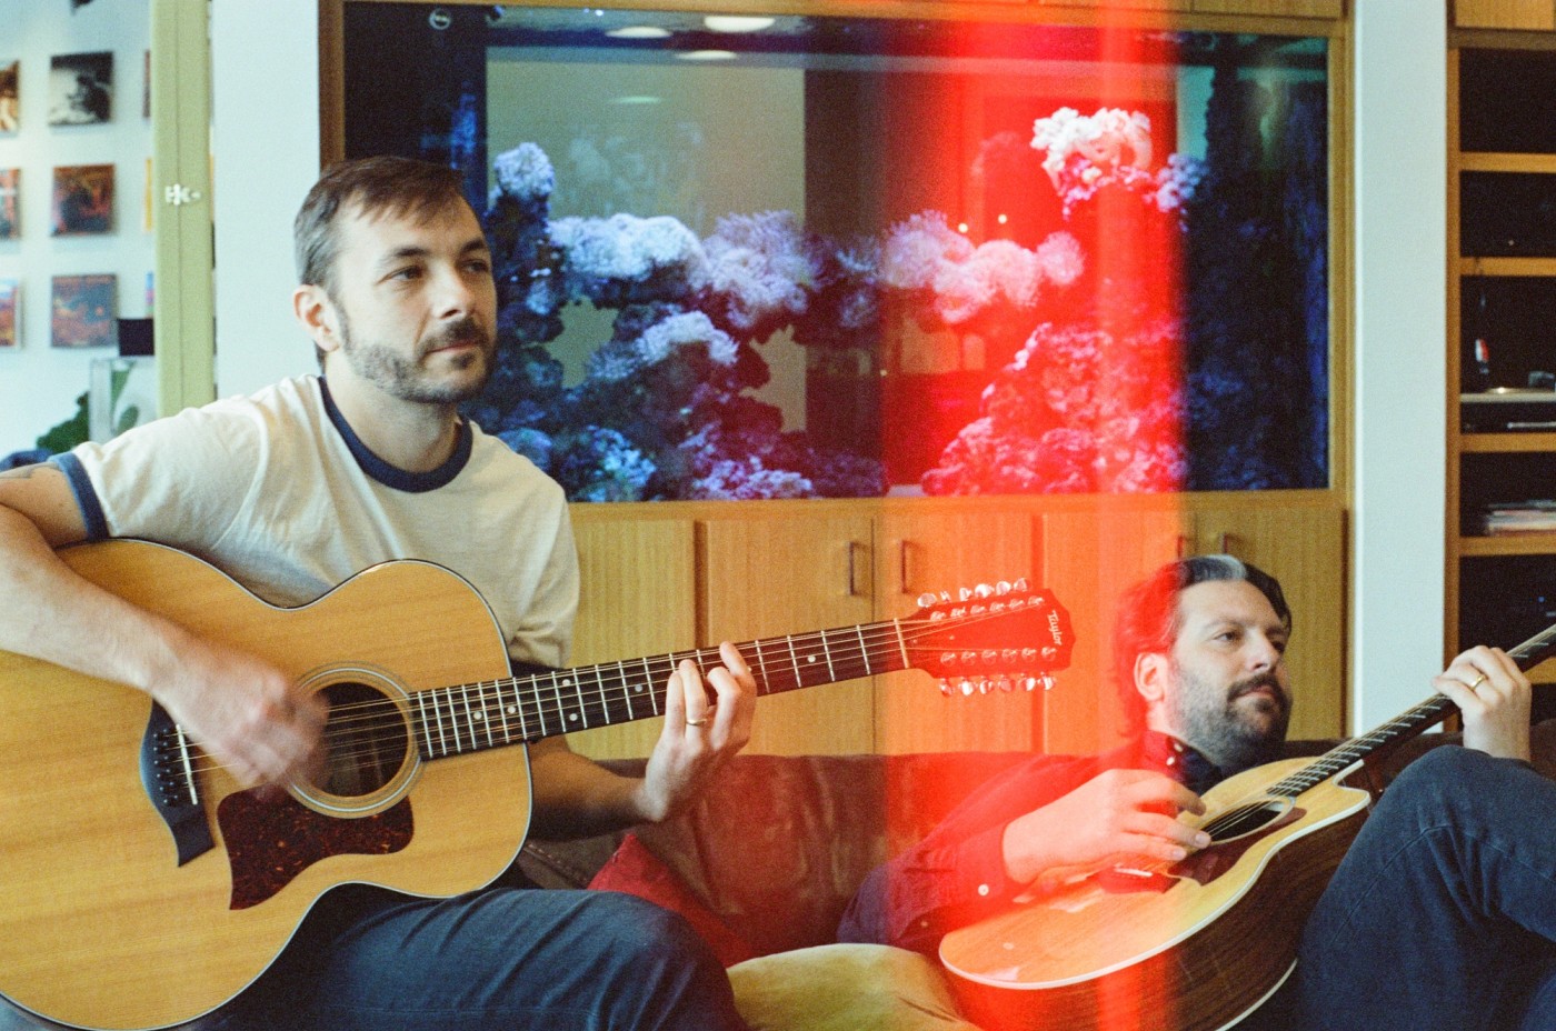
[[[1043,516],[1044,585],[1071,614],[1069,670],[1043,697],[1047,753],[1105,751],[1123,742],[1113,675],[1113,613],[1119,594],[1192,544],[1193,516],[1175,507],[1100,507]]]

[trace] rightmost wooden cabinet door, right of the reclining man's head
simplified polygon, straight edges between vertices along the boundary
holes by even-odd
[[[1346,526],[1324,507],[1201,510],[1200,550],[1225,550],[1276,580],[1291,606],[1293,740],[1344,732]]]

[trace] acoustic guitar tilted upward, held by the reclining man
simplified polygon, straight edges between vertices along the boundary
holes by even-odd
[[[1530,669],[1556,627],[1508,655]],[[1307,914],[1360,830],[1371,795],[1343,781],[1453,711],[1444,695],[1316,759],[1240,773],[1181,816],[1211,846],[1179,863],[1111,868],[941,939],[958,995],[990,1031],[1217,1031],[1296,967]]]

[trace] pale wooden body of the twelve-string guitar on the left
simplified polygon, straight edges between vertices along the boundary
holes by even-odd
[[[61,557],[135,605],[299,678],[363,666],[414,692],[509,675],[490,610],[437,566],[387,563],[283,610],[156,544],[110,541]],[[254,793],[219,770],[201,773],[215,848],[180,865],[138,771],[151,712],[138,690],[0,652],[0,994],[50,1020],[191,1020],[258,977],[330,888],[457,894],[499,875],[523,844],[527,754],[512,748],[412,762],[408,802],[364,818],[291,798],[240,807]],[[218,812],[232,813],[232,835]],[[386,823],[395,829],[380,830]],[[266,861],[235,885],[241,857],[271,851],[291,860],[285,872]]]

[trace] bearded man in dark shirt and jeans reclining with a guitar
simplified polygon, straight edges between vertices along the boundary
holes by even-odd
[[[1114,627],[1131,740],[1035,756],[979,788],[871,872],[839,938],[934,956],[1019,894],[1207,846],[1178,815],[1279,757],[1290,631],[1281,585],[1248,563],[1156,571]],[[1307,922],[1296,977],[1243,1026],[1556,1026],[1556,784],[1528,764],[1530,681],[1477,647],[1432,683],[1460,706],[1466,746],[1430,751],[1388,788]]]

